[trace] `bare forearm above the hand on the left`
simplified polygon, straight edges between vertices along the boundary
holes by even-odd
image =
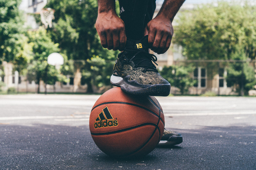
[[[116,14],[115,0],[98,0],[98,13],[112,12]]]

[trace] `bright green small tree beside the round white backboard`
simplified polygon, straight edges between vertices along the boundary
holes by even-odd
[[[47,57],[53,52],[59,52],[58,44],[52,42],[46,30],[40,27],[36,31],[28,31],[29,43],[32,46],[34,58],[31,60],[29,75],[36,78],[37,93],[40,92],[40,80],[46,84],[55,85],[60,72],[47,63]],[[45,88],[46,93],[46,88]]]

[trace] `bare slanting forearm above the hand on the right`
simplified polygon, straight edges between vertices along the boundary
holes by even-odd
[[[185,0],[164,0],[164,3],[157,16],[168,18],[172,22],[184,1]]]

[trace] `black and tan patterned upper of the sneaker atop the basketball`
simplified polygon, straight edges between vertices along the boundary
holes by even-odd
[[[124,52],[118,55],[113,75],[130,76],[129,80],[142,85],[169,84],[158,73],[156,61],[156,56],[148,53],[148,36],[140,41],[127,40]]]

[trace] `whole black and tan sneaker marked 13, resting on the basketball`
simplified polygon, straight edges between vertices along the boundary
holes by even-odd
[[[156,61],[156,55],[148,53],[148,36],[138,41],[127,39],[110,82],[134,95],[168,96],[171,85],[158,73]]]

